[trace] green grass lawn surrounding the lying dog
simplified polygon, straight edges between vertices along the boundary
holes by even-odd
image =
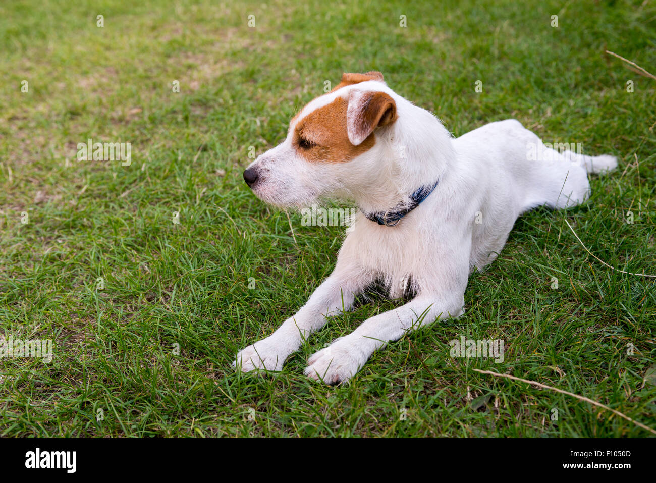
[[[656,81],[604,53],[655,72],[656,7],[434,4],[0,5],[0,333],[54,341],[50,364],[0,359],[0,436],[649,436],[473,369],[656,427],[656,386],[644,381],[656,359],[655,282],[602,266],[565,224],[612,266],[656,273]],[[398,302],[337,318],[276,376],[234,373],[237,350],[331,272],[342,237],[291,215],[295,242],[285,214],[241,179],[249,146],[259,154],[282,140],[325,80],[368,70],[455,135],[516,117],[546,142],[615,154],[620,167],[592,178],[589,203],[519,219],[499,259],[470,278],[462,318],[391,343],[350,382],[310,381],[306,358]],[[132,165],[77,161],[87,138],[131,142]],[[504,339],[504,362],[449,357],[461,335]]]

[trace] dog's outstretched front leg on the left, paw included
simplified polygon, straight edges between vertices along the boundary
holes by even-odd
[[[346,264],[340,266],[338,261],[331,276],[319,285],[295,316],[285,320],[269,337],[241,350],[232,365],[243,372],[279,371],[305,337],[323,327],[328,317],[349,310],[356,295],[369,282],[371,279],[364,272]]]

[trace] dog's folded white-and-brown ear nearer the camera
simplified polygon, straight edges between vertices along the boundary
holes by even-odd
[[[396,102],[379,91],[351,91],[346,111],[348,140],[359,146],[374,129],[396,121]]]

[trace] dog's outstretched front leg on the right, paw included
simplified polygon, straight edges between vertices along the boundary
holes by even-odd
[[[406,331],[431,324],[436,318],[460,316],[464,303],[462,293],[454,294],[450,303],[445,303],[443,294],[441,297],[419,295],[399,308],[365,320],[352,333],[312,355],[305,374],[327,384],[350,379],[364,366],[374,350],[388,341],[396,341]]]

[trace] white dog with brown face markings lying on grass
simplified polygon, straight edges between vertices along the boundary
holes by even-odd
[[[501,253],[522,213],[583,203],[588,173],[616,166],[613,156],[554,150],[516,119],[453,138],[380,72],[344,74],[293,117],[285,140],[258,156],[243,178],[260,200],[283,209],[338,198],[359,211],[332,274],[272,335],[241,350],[233,366],[279,371],[310,333],[349,310],[375,281],[393,299],[414,294],[308,359],[305,374],[313,379],[350,379],[389,341],[461,316],[469,274]]]

